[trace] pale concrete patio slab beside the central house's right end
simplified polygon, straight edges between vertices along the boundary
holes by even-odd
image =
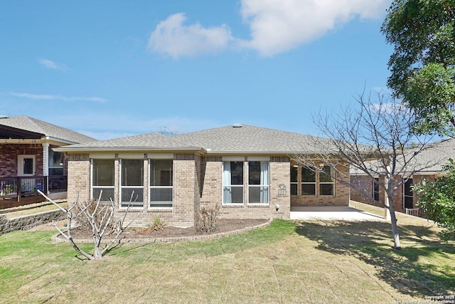
[[[385,221],[382,216],[355,209],[351,206],[295,206],[291,219],[303,221]]]

